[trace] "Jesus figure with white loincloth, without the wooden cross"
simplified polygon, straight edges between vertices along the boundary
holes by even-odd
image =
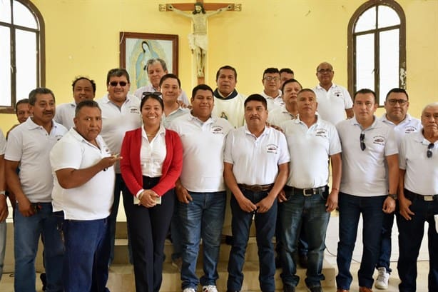
[[[197,75],[198,77],[203,77],[205,55],[207,54],[208,48],[207,19],[209,16],[213,16],[220,12],[231,9],[230,5],[215,11],[206,12],[203,4],[201,2],[196,2],[195,10],[193,10],[191,14],[186,14],[184,11],[176,9],[172,4],[168,4],[166,6],[170,11],[174,11],[175,13],[188,17],[192,20],[192,34],[188,35],[188,44],[192,50],[192,53],[196,56]]]

